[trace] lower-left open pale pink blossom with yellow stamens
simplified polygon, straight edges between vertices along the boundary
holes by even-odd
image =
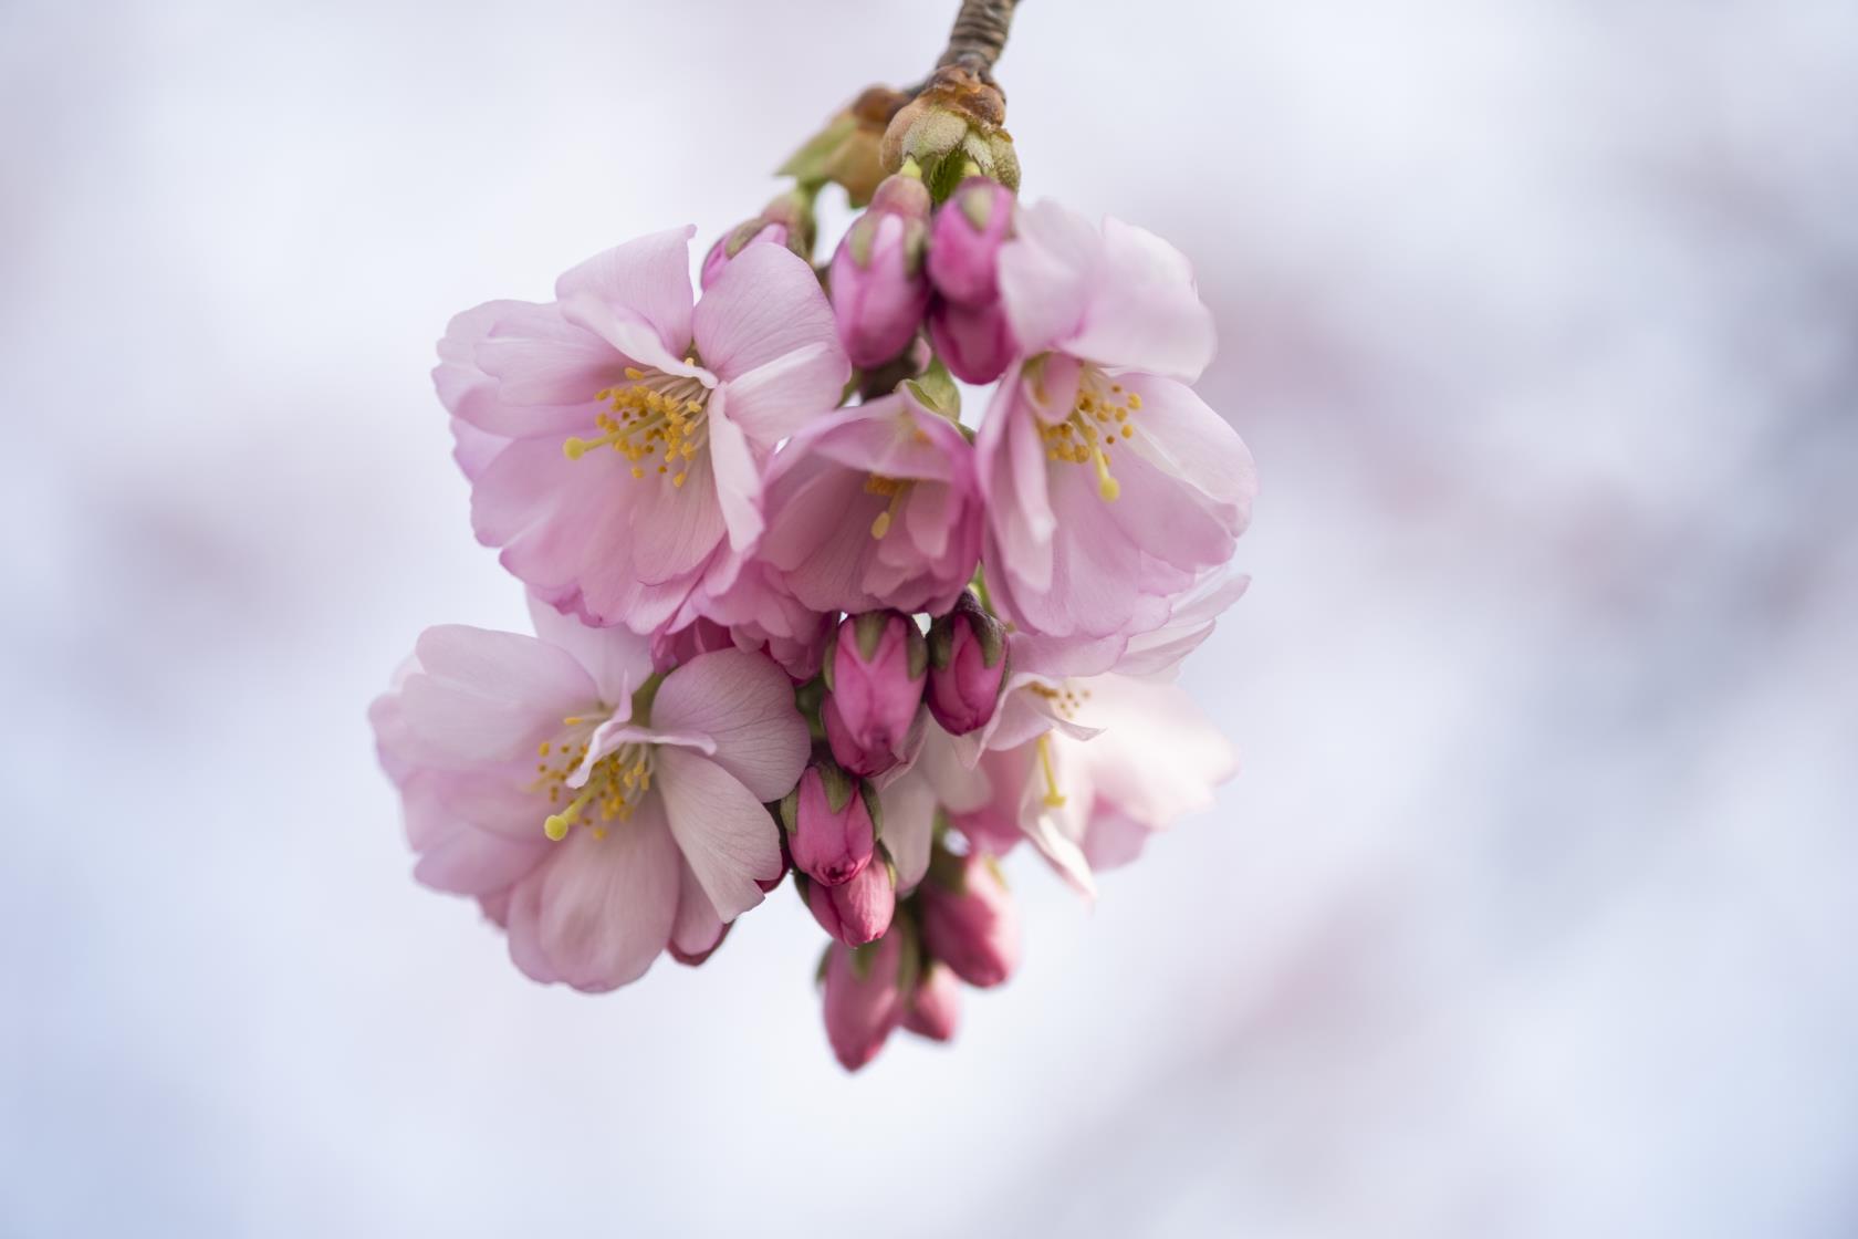
[[[660,676],[643,637],[533,613],[535,637],[427,630],[370,711],[414,875],[483,901],[537,981],[699,960],[780,873],[764,801],[806,763],[792,682],[734,648]]]

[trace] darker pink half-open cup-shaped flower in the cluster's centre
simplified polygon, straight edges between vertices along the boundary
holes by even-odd
[[[907,390],[795,435],[764,494],[756,554],[816,611],[946,611],[981,557],[974,448]]]

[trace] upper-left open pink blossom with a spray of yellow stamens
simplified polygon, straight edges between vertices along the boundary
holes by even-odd
[[[440,344],[450,412],[509,440],[466,468],[479,541],[595,624],[667,626],[752,544],[762,464],[849,373],[805,260],[747,245],[693,301],[689,236],[591,258],[554,303],[466,310]]]

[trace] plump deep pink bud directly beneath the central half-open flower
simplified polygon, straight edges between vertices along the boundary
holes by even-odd
[[[929,678],[929,646],[901,611],[847,617],[825,654],[821,708],[827,743],[845,769],[866,778],[903,760]]]

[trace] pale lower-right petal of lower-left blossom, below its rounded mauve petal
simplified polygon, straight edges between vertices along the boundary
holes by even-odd
[[[652,786],[671,834],[717,916],[732,921],[762,901],[756,879],[780,875],[780,827],[734,775],[686,749],[660,749]]]

